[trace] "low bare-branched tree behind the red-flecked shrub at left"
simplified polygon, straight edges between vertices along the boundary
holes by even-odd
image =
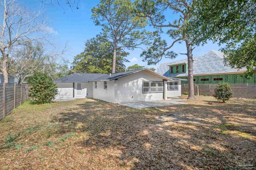
[[[18,83],[24,82],[35,72],[54,74],[56,61],[66,52],[66,45],[60,52],[45,51],[42,43],[31,42],[17,49],[13,54],[8,69],[15,73]]]

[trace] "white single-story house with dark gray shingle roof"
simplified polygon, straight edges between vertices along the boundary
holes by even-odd
[[[125,103],[181,96],[181,79],[168,78],[148,68],[114,74],[74,73],[54,82],[58,86],[57,99],[88,97]]]

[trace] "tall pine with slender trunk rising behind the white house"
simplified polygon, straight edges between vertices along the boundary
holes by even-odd
[[[103,27],[107,38],[113,42],[112,73],[116,72],[118,50],[148,45],[153,36],[143,29],[147,19],[136,15],[131,0],[100,0],[100,4],[92,8],[92,19],[96,25]]]

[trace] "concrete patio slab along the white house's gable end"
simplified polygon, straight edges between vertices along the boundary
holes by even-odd
[[[147,101],[147,102],[129,102],[129,103],[120,103],[123,106],[129,106],[135,109],[142,109],[146,107],[160,107],[160,106],[173,106],[173,105],[180,105],[180,104],[187,104],[184,102],[185,99],[179,99],[177,97],[170,98],[168,100],[154,100],[154,101]]]

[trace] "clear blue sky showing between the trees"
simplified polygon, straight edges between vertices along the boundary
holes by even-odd
[[[45,0],[44,0],[45,1]],[[59,48],[64,47],[65,43],[68,42],[68,52],[63,56],[65,59],[73,61],[74,56],[80,54],[84,50],[84,42],[90,38],[95,37],[101,31],[101,26],[96,26],[91,19],[91,8],[96,6],[100,0],[80,0],[79,9],[75,7],[72,10],[64,3],[65,0],[62,0],[62,6],[64,9],[58,6],[45,6],[45,15],[49,19],[49,27],[52,28],[52,37],[54,38],[55,43],[58,43]],[[26,0],[26,4],[32,6],[33,8],[38,8],[42,5],[42,0]],[[173,14],[168,14],[170,21],[176,16]],[[168,18],[168,19],[169,19]],[[167,35],[162,35],[163,39],[170,44],[172,39]],[[196,47],[193,51],[193,57],[199,57],[204,55],[210,50],[219,50],[220,47],[218,44],[213,44],[208,42],[203,47]],[[185,43],[176,43],[172,50],[176,53],[185,53],[186,45]],[[157,68],[158,64],[148,66],[146,62],[142,62],[140,58],[141,49],[135,49],[134,51],[127,50],[130,55],[128,60],[130,63],[125,63],[126,66],[133,64],[139,64],[146,67]],[[176,59],[180,60],[186,59],[185,55],[178,55]],[[170,59],[162,59],[160,63],[170,62]]]

